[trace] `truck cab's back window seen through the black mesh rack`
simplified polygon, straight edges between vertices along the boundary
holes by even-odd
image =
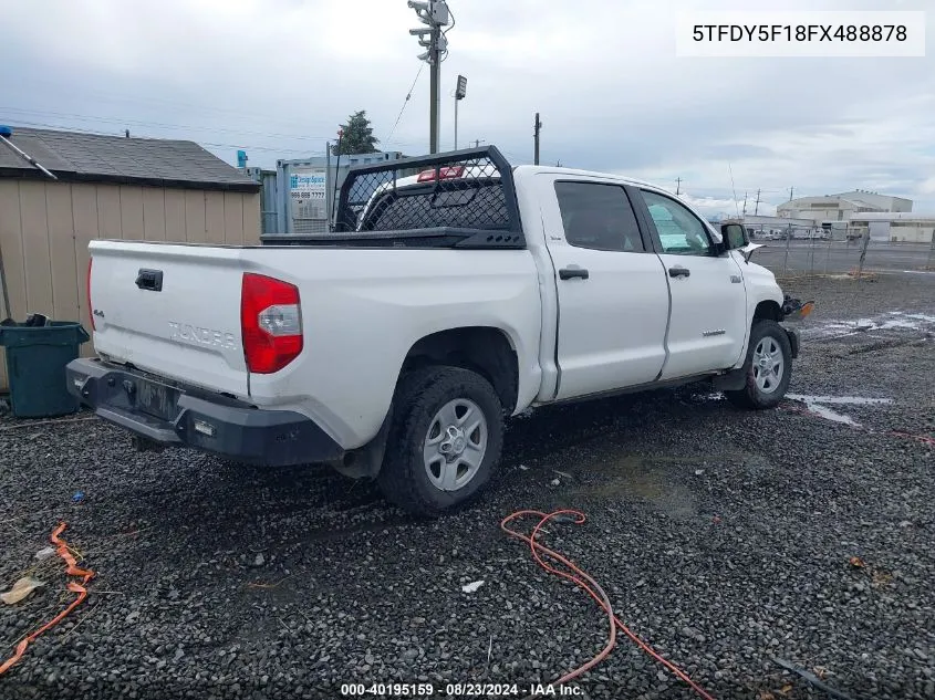
[[[406,194],[387,192],[373,202],[361,231],[405,231],[450,227],[458,229],[509,229],[510,218],[499,180],[466,180],[447,189],[416,186]]]

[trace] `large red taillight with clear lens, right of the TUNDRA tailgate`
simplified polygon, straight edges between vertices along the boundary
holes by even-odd
[[[240,333],[247,368],[272,374],[302,352],[302,309],[294,284],[247,272],[240,289]]]

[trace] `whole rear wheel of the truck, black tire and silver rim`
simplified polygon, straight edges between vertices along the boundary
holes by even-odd
[[[503,408],[490,383],[458,367],[426,367],[399,383],[377,481],[386,499],[437,516],[478,497],[503,445]]]

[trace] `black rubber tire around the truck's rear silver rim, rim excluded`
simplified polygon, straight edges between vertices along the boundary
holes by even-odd
[[[445,491],[429,479],[423,449],[436,414],[467,399],[484,414],[487,446],[480,467],[461,488]],[[437,518],[475,500],[490,480],[503,447],[503,407],[484,377],[459,367],[424,367],[399,380],[394,419],[377,483],[387,501],[413,515]]]

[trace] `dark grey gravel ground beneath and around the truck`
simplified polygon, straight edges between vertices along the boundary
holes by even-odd
[[[935,320],[880,321],[935,316],[935,275],[787,286],[819,303],[790,390],[892,399],[831,406],[861,427],[792,400],[738,411],[704,387],[541,409],[510,425],[488,495],[436,522],[314,468],[141,455],[94,418],[0,420],[0,587],[25,571],[48,583],[0,604],[0,658],[70,599],[61,560],[33,560],[60,521],[97,574],[85,604],[0,677],[0,698],[528,690],[606,640],[593,602],[498,527],[560,506],[588,522],[550,526],[548,543],[714,697],[827,697],[778,657],[854,700],[935,698],[933,449],[890,435],[935,437]],[[574,687],[695,697],[623,637]]]

